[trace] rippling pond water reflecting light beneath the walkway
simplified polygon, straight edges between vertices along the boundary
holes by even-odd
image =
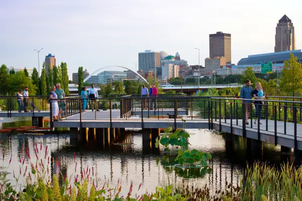
[[[16,126],[16,124],[30,124],[30,120],[26,119],[12,120],[13,118],[1,120],[1,126],[6,128]],[[103,184],[105,178],[112,183],[112,186],[115,186],[120,179],[122,192],[127,193],[130,183],[133,181],[134,193],[140,183],[142,185],[139,193],[142,193],[146,189],[155,191],[156,186],[159,186],[163,180],[168,181],[168,178],[170,183],[182,179],[202,184],[207,183],[211,189],[216,190],[223,188],[226,182],[237,185],[240,182],[239,172],[246,167],[247,163],[259,160],[280,164],[293,160],[292,152],[283,153],[279,146],[272,144],[264,143],[262,151],[253,151],[247,149],[246,141],[241,137],[235,136],[234,144],[230,146],[225,141],[225,135],[228,134],[198,129],[190,129],[187,132],[191,134],[190,149],[194,148],[212,154],[212,159],[209,161],[211,170],[205,174],[201,174],[200,169],[176,169],[164,166],[159,160],[164,154],[163,148],[155,148],[154,142],[144,143],[140,131],[130,130],[125,131],[124,137],[116,136],[115,139],[110,139],[108,136],[108,138],[98,141],[87,137],[77,146],[69,146],[69,135],[66,134],[1,134],[1,147],[4,147],[5,150],[2,166],[10,173],[8,175],[10,179],[13,178],[13,172],[15,175],[19,175],[20,166],[22,167],[19,155],[21,159],[25,158],[25,165],[22,168],[25,169],[26,165],[29,168],[30,162],[26,157],[25,148],[29,150],[31,160],[35,164],[35,143],[39,150],[42,143],[44,148],[48,147],[46,165],[48,156],[54,158],[48,165],[49,174],[61,171],[69,178],[70,175],[81,175],[81,169],[86,171],[88,167],[92,171],[92,167],[94,167],[94,174],[99,178],[99,186]],[[121,146],[115,143],[126,143],[127,145]],[[41,156],[44,159],[43,150]],[[3,149],[0,149],[0,152],[2,160]],[[73,153],[75,153],[75,159]],[[9,164],[11,156],[12,162]],[[77,163],[76,170],[75,163]],[[19,183],[22,182],[24,179],[19,180]]]

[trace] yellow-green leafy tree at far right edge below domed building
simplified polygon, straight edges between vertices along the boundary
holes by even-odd
[[[290,53],[289,60],[284,61],[282,75],[280,77],[280,89],[283,92],[302,93],[302,68],[297,57]]]

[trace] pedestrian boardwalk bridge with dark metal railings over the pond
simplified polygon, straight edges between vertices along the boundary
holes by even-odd
[[[63,114],[63,121],[59,122],[53,121],[52,107],[47,103],[40,112],[33,110],[30,113],[18,113],[11,107],[8,111],[2,111],[1,115],[50,116],[52,128],[67,127],[70,128],[70,132],[78,131],[78,128],[209,129],[253,139],[256,142],[268,142],[302,150],[301,97],[267,96],[257,117],[256,109],[253,107],[251,114],[253,120],[247,120],[244,115],[247,106],[242,102],[246,99],[236,97],[195,97],[179,94],[157,97],[108,95],[97,99],[101,111],[86,110],[86,112],[83,110],[83,99],[74,96],[64,101],[66,111]],[[153,107],[154,103],[156,108]],[[118,106],[117,109],[113,108],[115,104]]]

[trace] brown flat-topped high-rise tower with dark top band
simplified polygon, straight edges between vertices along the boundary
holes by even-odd
[[[231,34],[210,34],[210,58],[212,57],[225,57],[226,62],[231,63]]]

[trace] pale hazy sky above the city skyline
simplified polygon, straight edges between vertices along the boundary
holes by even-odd
[[[290,9],[286,9],[290,7]],[[90,73],[110,65],[138,70],[138,52],[152,49],[189,65],[209,57],[209,34],[232,34],[232,63],[274,52],[275,28],[286,14],[302,48],[302,1],[0,0],[0,64],[40,69],[45,56]],[[105,70],[123,70],[105,68]]]

